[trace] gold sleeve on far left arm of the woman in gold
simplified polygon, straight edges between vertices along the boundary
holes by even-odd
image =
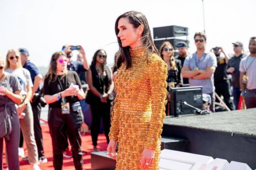
[[[109,139],[113,139],[118,141],[118,135],[120,131],[120,109],[119,109],[119,103],[118,103],[118,93],[116,96],[116,99],[114,100],[114,106],[113,106],[113,113],[112,113],[112,120],[111,120],[111,128],[109,132]]]

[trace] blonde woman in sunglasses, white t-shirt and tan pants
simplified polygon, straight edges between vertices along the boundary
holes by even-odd
[[[29,163],[33,164],[33,169],[40,169],[38,166],[37,144],[34,138],[33,112],[30,105],[33,83],[29,71],[22,67],[19,51],[9,50],[7,52],[6,72],[16,75],[20,81],[21,95],[24,99],[23,103],[17,106],[17,112],[19,115],[25,113],[23,119],[20,119],[20,127],[27,145]]]

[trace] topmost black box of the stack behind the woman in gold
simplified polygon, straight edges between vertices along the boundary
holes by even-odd
[[[188,28],[183,26],[161,26],[153,28],[154,39],[180,37],[188,35]]]

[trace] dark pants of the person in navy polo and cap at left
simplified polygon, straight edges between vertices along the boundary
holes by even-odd
[[[34,118],[34,138],[37,143],[38,159],[45,157],[43,152],[43,135],[40,126],[41,104],[31,103]]]

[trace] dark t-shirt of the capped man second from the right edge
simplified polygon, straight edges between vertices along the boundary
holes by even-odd
[[[239,77],[240,77],[240,71],[239,71],[239,65],[240,61],[242,60],[244,54],[241,54],[240,56],[233,56],[231,59],[228,60],[228,68],[233,67],[235,71],[232,73],[232,82],[231,85],[233,87],[240,87],[239,84]]]

